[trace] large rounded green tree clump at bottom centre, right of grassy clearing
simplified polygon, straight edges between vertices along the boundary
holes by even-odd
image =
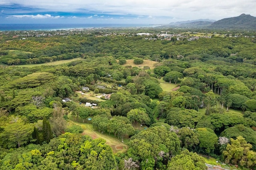
[[[170,157],[179,153],[178,136],[165,127],[148,128],[132,136],[128,156],[140,162],[141,169],[164,168]]]

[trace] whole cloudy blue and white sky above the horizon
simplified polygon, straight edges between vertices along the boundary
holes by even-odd
[[[169,24],[255,9],[256,0],[0,0],[0,24]]]

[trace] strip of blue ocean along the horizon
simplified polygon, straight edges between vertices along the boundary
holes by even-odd
[[[0,31],[69,30],[76,28],[131,28],[157,27],[149,24],[0,24]]]

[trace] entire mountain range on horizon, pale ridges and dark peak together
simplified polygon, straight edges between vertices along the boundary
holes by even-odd
[[[216,29],[256,29],[256,17],[249,14],[241,14],[232,18],[222,20],[190,20],[182,22],[172,22],[168,24],[174,27],[192,27],[192,28],[216,28]]]

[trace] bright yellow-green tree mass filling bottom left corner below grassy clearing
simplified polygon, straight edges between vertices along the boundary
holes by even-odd
[[[103,139],[65,133],[49,144],[30,144],[5,152],[0,159],[6,169],[116,169],[112,148]],[[15,156],[14,156],[15,155]]]

